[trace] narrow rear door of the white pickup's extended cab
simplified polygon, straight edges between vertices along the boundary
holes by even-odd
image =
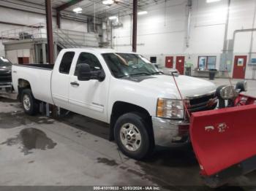
[[[62,56],[59,55],[61,58],[59,67],[56,66],[52,74],[51,90],[54,104],[64,109],[69,109],[69,72],[74,57],[75,52],[72,51],[64,52]]]

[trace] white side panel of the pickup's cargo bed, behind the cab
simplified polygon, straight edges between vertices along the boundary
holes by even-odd
[[[19,80],[29,82],[34,98],[53,104],[51,95],[51,75],[53,66],[50,64],[14,64],[12,65],[12,84],[18,92]]]

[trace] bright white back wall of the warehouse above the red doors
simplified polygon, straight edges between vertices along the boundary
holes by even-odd
[[[166,55],[185,55],[186,62],[193,63],[193,69],[197,68],[199,55],[216,55],[219,69],[227,4],[227,0],[211,4],[207,4],[206,0],[192,0],[189,47],[186,47],[187,0],[172,0],[167,1],[166,5],[163,3],[149,7],[146,9],[147,15],[138,16],[138,52],[147,57],[157,56],[162,65],[165,64]],[[255,0],[231,0],[227,39],[233,39],[233,31],[238,29],[256,28],[256,22],[253,23],[255,9]],[[124,26],[113,31],[115,49],[131,51],[131,17],[128,15],[119,20]],[[247,32],[236,35],[235,55],[249,55],[251,34]],[[255,40],[252,52],[256,52]],[[252,58],[256,58],[256,55],[252,55]],[[246,78],[252,79],[252,69],[252,66],[246,67]]]

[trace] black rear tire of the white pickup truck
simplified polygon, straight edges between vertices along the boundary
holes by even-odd
[[[24,99],[28,98],[29,106],[25,104]],[[34,98],[30,89],[25,89],[21,93],[21,104],[23,106],[24,112],[29,115],[35,115],[39,111],[38,101]]]

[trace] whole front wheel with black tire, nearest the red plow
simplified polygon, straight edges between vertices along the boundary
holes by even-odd
[[[138,113],[127,113],[119,117],[114,133],[118,148],[128,157],[142,160],[154,149],[151,127]]]

